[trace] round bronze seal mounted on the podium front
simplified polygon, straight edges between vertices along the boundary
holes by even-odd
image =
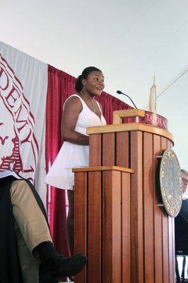
[[[166,212],[175,217],[182,206],[181,168],[172,149],[166,149],[160,161],[160,192]]]

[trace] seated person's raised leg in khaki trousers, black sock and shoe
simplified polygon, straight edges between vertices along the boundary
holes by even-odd
[[[85,255],[78,254],[65,258],[54,249],[45,216],[25,180],[16,180],[12,183],[11,202],[13,216],[30,253],[37,250],[40,255],[41,278],[45,280],[46,274],[54,277],[74,276],[83,269],[87,262]]]

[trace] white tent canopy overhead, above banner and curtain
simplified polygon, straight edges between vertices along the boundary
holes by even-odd
[[[157,85],[158,114],[170,123],[175,152],[188,169],[187,0],[0,0],[0,40],[72,76],[102,69],[105,91],[127,93],[148,109]],[[124,96],[117,96],[131,105]]]

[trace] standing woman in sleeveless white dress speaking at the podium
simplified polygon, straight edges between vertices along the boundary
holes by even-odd
[[[104,76],[100,69],[88,67],[78,76],[75,84],[77,94],[69,96],[64,103],[61,135],[64,144],[55,159],[45,183],[68,192],[69,213],[66,231],[71,255],[74,253],[74,173],[72,168],[89,165],[89,137],[87,127],[106,125],[101,105],[95,100],[104,87]]]

